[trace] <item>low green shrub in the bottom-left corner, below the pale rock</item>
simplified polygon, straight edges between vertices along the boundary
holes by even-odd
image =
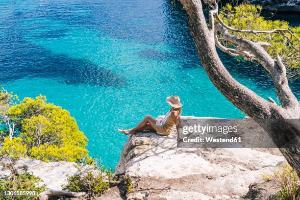
[[[14,162],[13,162],[14,163]],[[13,163],[8,164],[6,167],[11,171],[11,176],[0,177],[0,191],[35,191],[36,194],[46,191],[46,185],[41,184],[42,180],[39,177],[31,175],[27,172],[26,166],[23,167],[24,173],[18,173],[13,168]],[[28,196],[1,196],[2,200],[35,200],[36,197]]]

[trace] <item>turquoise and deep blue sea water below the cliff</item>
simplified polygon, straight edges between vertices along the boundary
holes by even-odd
[[[170,0],[0,0],[0,10],[3,86],[68,109],[104,165],[115,166],[125,143],[117,127],[165,114],[172,94],[184,115],[244,116],[210,82]],[[220,56],[237,80],[276,99],[260,67]],[[298,98],[299,86],[291,84]]]

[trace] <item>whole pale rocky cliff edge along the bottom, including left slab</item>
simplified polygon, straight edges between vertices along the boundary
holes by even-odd
[[[258,129],[261,131],[259,125],[251,127],[249,133]],[[177,148],[176,135],[174,127],[169,136],[153,131],[129,136],[115,172],[130,176],[133,188],[125,194],[124,188],[113,186],[95,200],[263,200],[274,194],[274,185],[266,185],[262,175],[272,174],[285,161],[279,150]],[[0,176],[9,175],[5,164],[12,160],[2,158]],[[24,165],[50,190],[61,190],[66,175],[74,175],[82,167],[73,162],[20,158],[14,169],[22,171]]]

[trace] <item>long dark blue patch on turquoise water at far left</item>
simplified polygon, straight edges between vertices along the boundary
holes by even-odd
[[[7,40],[13,41],[11,35]],[[53,55],[49,50],[24,41],[18,41],[15,45],[0,44],[0,58],[3,82],[27,77],[54,78],[64,84],[125,85],[124,77],[85,59],[70,58],[65,54]]]

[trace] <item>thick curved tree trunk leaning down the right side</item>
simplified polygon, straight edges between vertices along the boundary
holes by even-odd
[[[287,159],[288,163],[297,171],[298,175],[300,176],[300,106],[298,101],[295,102],[296,98],[293,97],[293,94],[289,93],[291,97],[284,97],[283,99],[291,99],[294,107],[281,108],[275,103],[261,98],[255,92],[237,82],[228,73],[219,58],[215,48],[214,26],[211,25],[211,29],[207,27],[202,11],[201,1],[180,0],[180,2],[183,4],[187,12],[191,35],[198,50],[201,63],[210,80],[228,100],[230,100],[236,107],[245,112],[248,116],[255,119],[257,123],[269,133],[277,147]],[[242,38],[235,39],[238,40],[238,42],[242,41]],[[275,70],[274,68],[277,66],[275,65],[276,63],[273,61],[272,65],[272,61],[270,61],[270,59],[264,59],[264,52],[258,54],[259,52],[256,52],[256,50],[260,49],[255,45],[256,44],[253,45],[253,51],[255,51],[262,62],[270,65],[267,66],[271,68],[270,70]],[[284,89],[288,91],[290,88],[288,87],[287,82],[281,82],[283,86],[278,86],[280,82],[275,82],[276,92],[278,91],[278,87],[284,87]],[[284,95],[286,95],[286,93],[284,93]],[[291,104],[286,101],[284,101],[284,103],[289,106]],[[270,121],[262,119],[281,120]],[[290,122],[282,119],[296,120]]]

